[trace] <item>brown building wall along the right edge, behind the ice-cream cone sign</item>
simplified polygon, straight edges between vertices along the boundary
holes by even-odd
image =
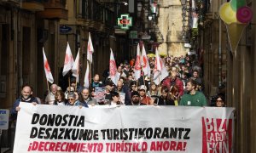
[[[224,23],[218,24],[218,8],[226,1],[212,1],[212,24],[204,31],[204,79],[206,81],[207,94],[211,94],[214,87],[218,87],[219,74],[224,81],[226,73],[226,102],[227,106],[236,108],[235,116],[235,142],[234,152],[256,151],[256,53],[255,53],[255,22],[253,16],[251,26],[242,34],[236,51],[230,51],[227,39],[227,31]],[[256,3],[247,1],[247,5],[256,9]],[[221,27],[221,28],[220,28]],[[219,31],[221,31],[221,68],[218,68]]]

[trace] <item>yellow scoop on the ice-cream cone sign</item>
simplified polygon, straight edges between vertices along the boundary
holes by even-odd
[[[236,11],[231,8],[230,3],[224,3],[218,9],[218,14],[226,24],[236,23]]]

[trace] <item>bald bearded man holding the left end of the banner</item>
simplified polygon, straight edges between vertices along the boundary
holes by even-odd
[[[20,111],[20,102],[32,103],[32,105],[38,105],[38,99],[32,96],[32,87],[30,85],[23,85],[20,98],[15,100],[15,104],[11,110],[11,116],[14,120],[17,119],[17,113]]]

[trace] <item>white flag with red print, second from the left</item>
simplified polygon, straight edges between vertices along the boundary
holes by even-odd
[[[71,53],[71,48],[69,47],[69,44],[67,42],[67,49],[66,49],[65,62],[64,62],[62,75],[65,76],[67,72],[72,69],[72,66],[73,66],[73,55]]]

